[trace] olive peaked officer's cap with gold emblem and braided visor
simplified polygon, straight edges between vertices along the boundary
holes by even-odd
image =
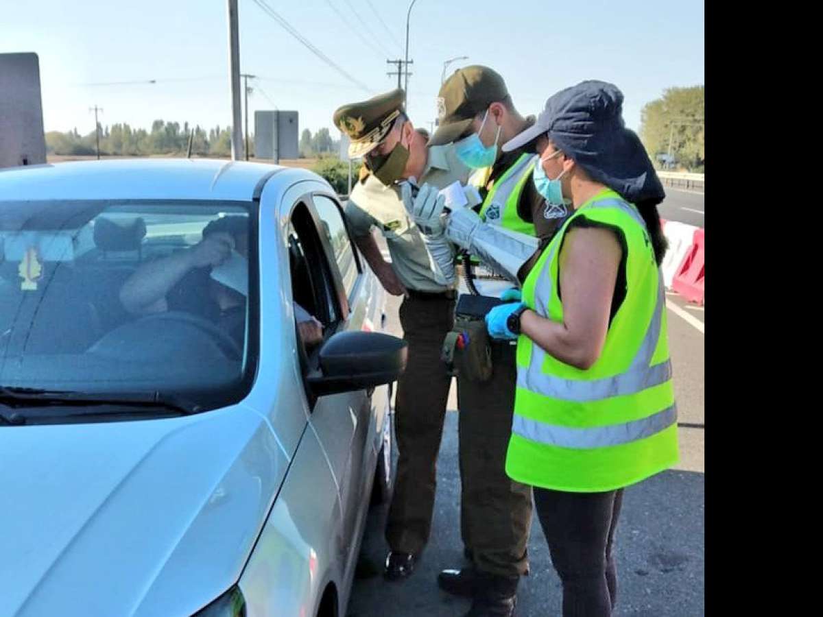
[[[368,154],[383,141],[402,112],[402,105],[403,90],[397,88],[338,108],[332,122],[351,139],[349,156]]]

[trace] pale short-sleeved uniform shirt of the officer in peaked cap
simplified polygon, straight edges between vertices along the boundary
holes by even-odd
[[[454,154],[453,145],[431,146],[417,185],[428,183],[444,188],[458,180],[466,183],[470,171]],[[351,190],[346,217],[356,237],[370,234],[372,227],[381,231],[392,256],[392,267],[408,290],[439,292],[449,289],[435,281],[432,259],[420,230],[403,205],[398,184],[387,187],[369,174]]]

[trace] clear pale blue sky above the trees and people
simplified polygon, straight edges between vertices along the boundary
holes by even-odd
[[[300,131],[339,132],[342,104],[397,87],[387,59],[403,58],[409,0],[265,2],[341,70],[329,66],[267,15],[239,0],[249,130],[258,109],[297,110]],[[44,128],[81,134],[100,123],[151,128],[156,119],[203,128],[231,122],[226,0],[0,0],[0,53],[40,58]],[[500,72],[518,111],[585,79],[611,81],[627,126],[672,86],[704,84],[704,3],[415,0],[407,111],[431,128],[444,62]],[[155,83],[148,83],[155,80]],[[127,83],[123,83],[127,82]]]

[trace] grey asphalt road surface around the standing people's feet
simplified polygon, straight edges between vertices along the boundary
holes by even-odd
[[[668,295],[667,301],[681,462],[626,489],[616,537],[620,591],[615,615],[704,614],[704,341],[699,329],[704,312],[687,306],[677,295]],[[399,335],[398,305],[392,297],[387,308],[388,327]],[[453,388],[439,453],[432,535],[415,573],[404,582],[385,582],[380,575],[388,550],[383,536],[387,508],[374,508],[348,617],[445,617],[468,610],[467,600],[449,596],[436,583],[441,568],[463,564],[456,407]],[[517,615],[560,615],[560,579],[551,566],[537,518],[532,521],[528,551],[531,574],[521,582]]]

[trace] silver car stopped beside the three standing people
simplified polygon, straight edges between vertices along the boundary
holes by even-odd
[[[345,615],[384,302],[305,169],[0,172],[0,615]]]

